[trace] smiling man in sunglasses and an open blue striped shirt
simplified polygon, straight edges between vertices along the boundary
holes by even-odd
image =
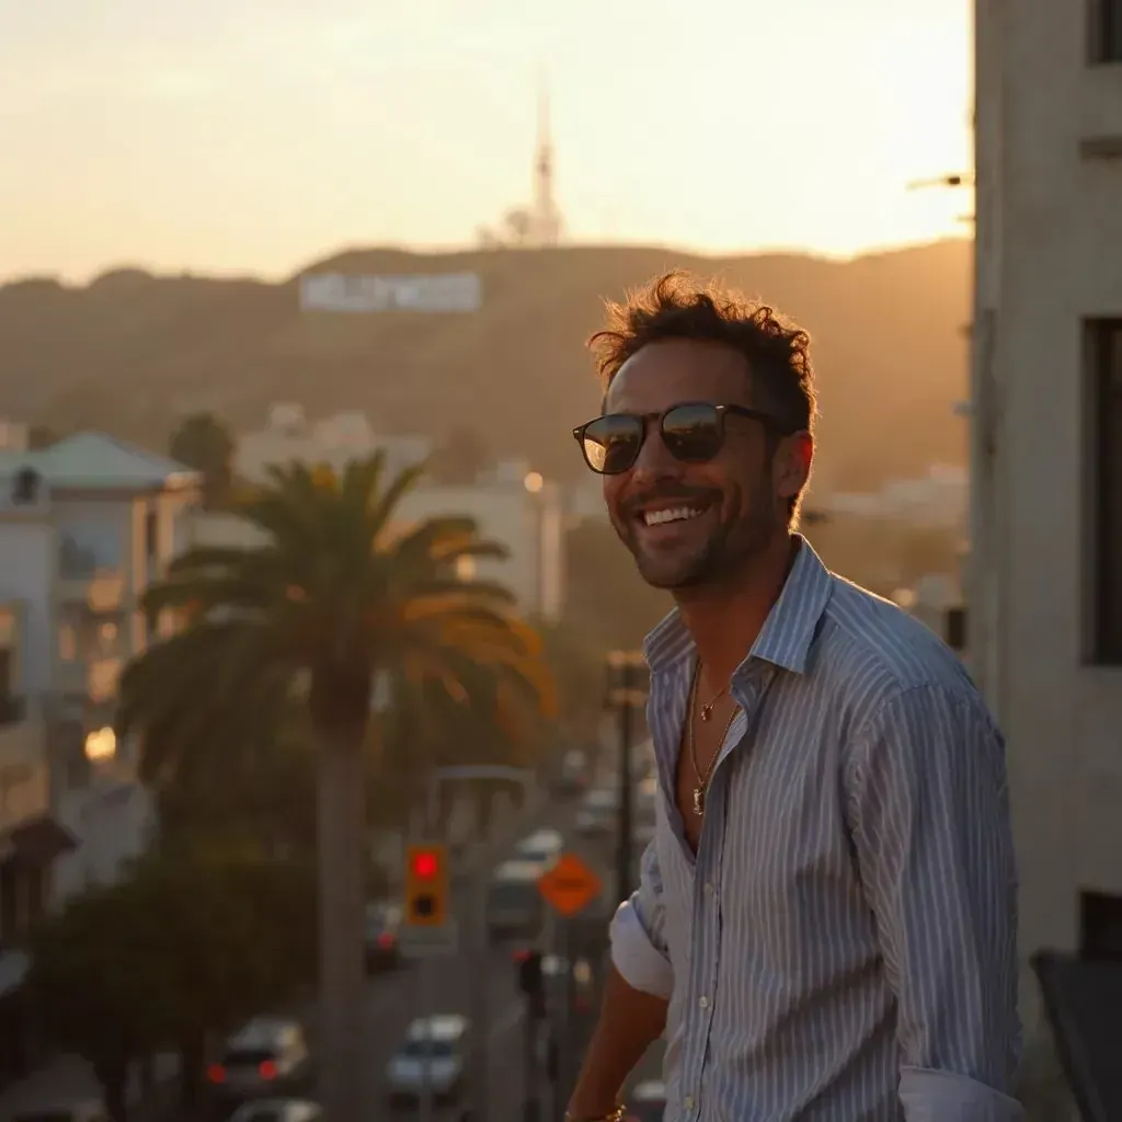
[[[592,338],[573,435],[644,580],[660,798],[568,1118],[1013,1122],[1015,873],[1001,735],[955,655],[797,532],[806,332],[670,275]]]

